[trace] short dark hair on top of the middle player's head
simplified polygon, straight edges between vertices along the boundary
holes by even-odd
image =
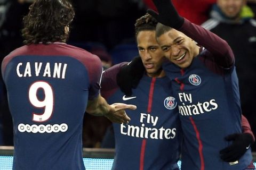
[[[137,37],[140,31],[145,30],[156,30],[157,20],[151,16],[150,14],[146,13],[145,15],[141,16],[141,18],[137,19],[135,22],[135,37]]]

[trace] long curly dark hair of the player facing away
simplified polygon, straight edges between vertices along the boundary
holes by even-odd
[[[23,18],[23,43],[66,42],[74,16],[74,8],[68,0],[35,0]]]

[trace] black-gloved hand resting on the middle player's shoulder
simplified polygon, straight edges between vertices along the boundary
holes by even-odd
[[[116,75],[116,81],[121,91],[123,91],[126,96],[131,96],[132,88],[137,88],[144,73],[145,67],[141,57],[134,57],[133,60],[123,66]]]

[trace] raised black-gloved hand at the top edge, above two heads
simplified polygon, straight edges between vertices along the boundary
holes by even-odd
[[[154,10],[147,10],[147,12],[158,22],[174,29],[179,29],[182,26],[184,18],[178,14],[171,0],[153,0],[153,2],[158,14]]]

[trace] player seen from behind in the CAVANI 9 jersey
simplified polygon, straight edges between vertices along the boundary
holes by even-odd
[[[65,43],[73,18],[67,0],[36,0],[23,19],[26,45],[2,62],[13,118],[13,169],[85,169],[85,111],[128,123],[124,109],[135,109],[108,105],[101,97],[99,57]]]

